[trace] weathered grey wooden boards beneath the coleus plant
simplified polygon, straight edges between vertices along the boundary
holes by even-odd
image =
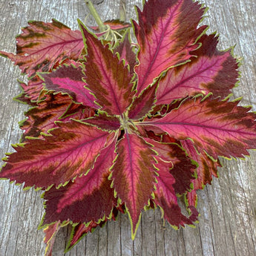
[[[135,18],[134,4],[127,2],[127,16]],[[98,1],[100,2],[100,1]],[[119,0],[103,1],[96,9],[103,18],[116,18]],[[240,67],[240,87],[234,96],[243,96],[244,105],[256,110],[256,2],[255,0],[207,0],[211,31],[220,33],[221,49],[237,45],[234,54],[243,58]],[[15,36],[27,20],[49,22],[55,18],[71,28],[77,28],[76,19],[87,14],[83,0],[0,0],[0,49],[15,52]],[[88,23],[91,20],[88,19]],[[17,121],[24,119],[25,105],[12,100],[20,92],[16,79],[19,68],[13,68],[8,59],[0,58],[0,156],[13,151],[10,143],[19,141],[21,131]],[[175,231],[163,227],[160,211],[143,213],[140,228],[131,240],[127,216],[102,229],[88,234],[78,246],[66,255],[256,255],[256,154],[243,160],[223,160],[220,179],[214,179],[199,193],[200,223],[195,229],[186,227]],[[45,245],[42,230],[36,228],[43,214],[40,191],[22,191],[22,188],[0,182],[0,255],[41,256]],[[54,256],[63,255],[69,230],[59,234]]]

